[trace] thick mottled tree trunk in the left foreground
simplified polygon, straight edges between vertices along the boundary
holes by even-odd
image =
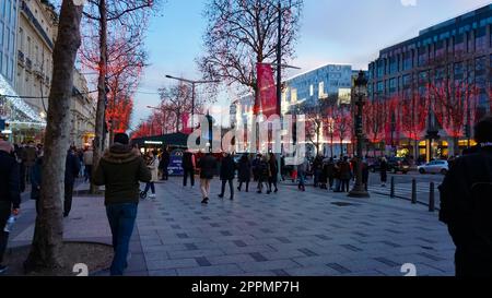
[[[24,263],[27,271],[62,266],[62,200],[65,164],[69,147],[70,99],[73,68],[81,44],[82,5],[63,0],[58,37],[52,52],[54,71],[49,93],[48,123],[40,189],[40,213],[36,218],[33,245]]]

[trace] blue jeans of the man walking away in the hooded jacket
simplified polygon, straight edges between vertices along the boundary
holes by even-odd
[[[112,276],[121,276],[127,266],[127,255],[137,218],[137,203],[110,204],[106,206],[107,219],[113,234],[115,257],[110,267]]]

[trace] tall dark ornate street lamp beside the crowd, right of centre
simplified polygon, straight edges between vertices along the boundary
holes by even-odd
[[[355,80],[355,105],[358,106],[358,115],[355,116],[355,134],[358,138],[358,157],[356,157],[356,172],[355,172],[355,186],[349,193],[350,198],[370,198],[371,195],[365,190],[362,183],[362,148],[364,142],[364,129],[362,123],[362,112],[365,105],[365,97],[367,96],[367,79],[364,76],[364,72],[359,72],[359,78]]]

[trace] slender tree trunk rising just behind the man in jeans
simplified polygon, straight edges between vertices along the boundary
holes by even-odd
[[[99,0],[99,78],[97,83],[97,110],[96,110],[96,123],[95,123],[95,138],[94,138],[94,160],[93,160],[93,177],[95,170],[103,156],[103,134],[104,121],[106,119],[106,68],[107,68],[107,10],[106,0]],[[91,183],[91,193],[96,193],[97,187]]]

